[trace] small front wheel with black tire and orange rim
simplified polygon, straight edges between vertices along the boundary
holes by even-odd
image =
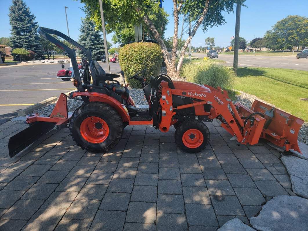
[[[200,152],[209,144],[208,127],[198,120],[185,120],[179,124],[175,134],[175,142],[184,152]]]

